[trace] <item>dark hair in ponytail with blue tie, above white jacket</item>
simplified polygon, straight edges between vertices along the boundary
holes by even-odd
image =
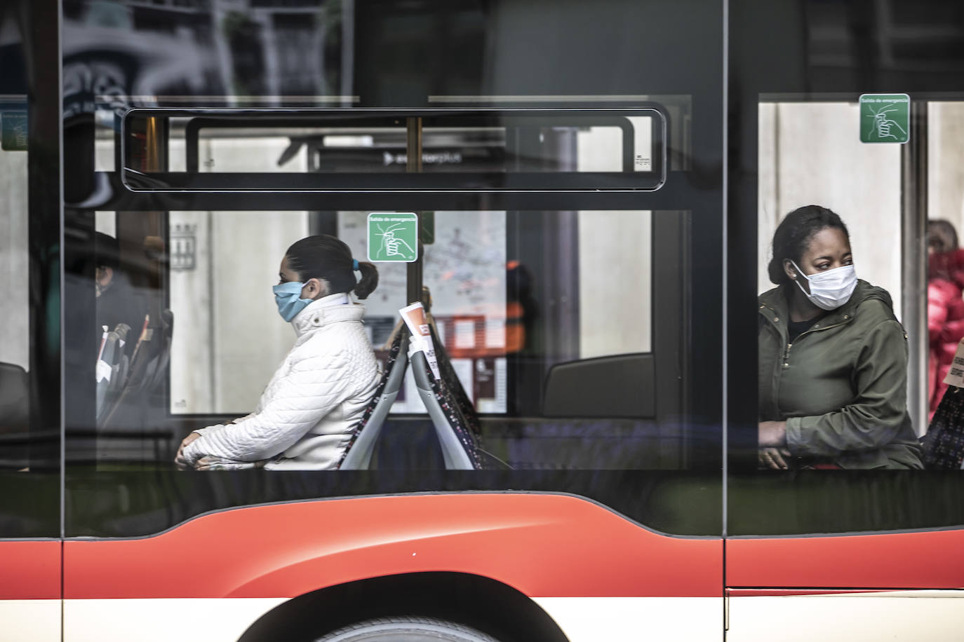
[[[355,261],[352,250],[343,241],[328,234],[305,237],[288,247],[284,253],[288,267],[298,272],[302,283],[308,279],[324,279],[330,295],[354,292],[367,298],[378,286],[378,269],[371,263],[359,261],[362,280],[355,280]]]

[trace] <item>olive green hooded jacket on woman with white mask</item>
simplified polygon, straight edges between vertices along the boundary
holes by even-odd
[[[788,342],[788,288],[760,295],[760,421],[787,422],[799,463],[923,468],[907,414],[907,334],[891,296],[860,280]]]

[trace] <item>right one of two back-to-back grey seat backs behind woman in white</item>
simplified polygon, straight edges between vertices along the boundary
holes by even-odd
[[[429,369],[428,360],[422,351],[413,352],[412,373],[415,388],[435,425],[442,447],[442,459],[446,470],[471,471],[482,468],[478,444],[469,429],[459,404],[445,379],[436,379]]]

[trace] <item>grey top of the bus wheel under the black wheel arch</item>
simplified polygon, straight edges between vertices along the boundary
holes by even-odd
[[[365,620],[319,637],[315,642],[498,642],[465,625],[436,618],[390,617]]]

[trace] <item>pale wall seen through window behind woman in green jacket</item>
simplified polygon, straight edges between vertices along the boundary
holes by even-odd
[[[758,289],[777,224],[802,205],[828,207],[850,230],[860,278],[894,299],[900,318],[900,145],[860,141],[856,103],[760,105]]]

